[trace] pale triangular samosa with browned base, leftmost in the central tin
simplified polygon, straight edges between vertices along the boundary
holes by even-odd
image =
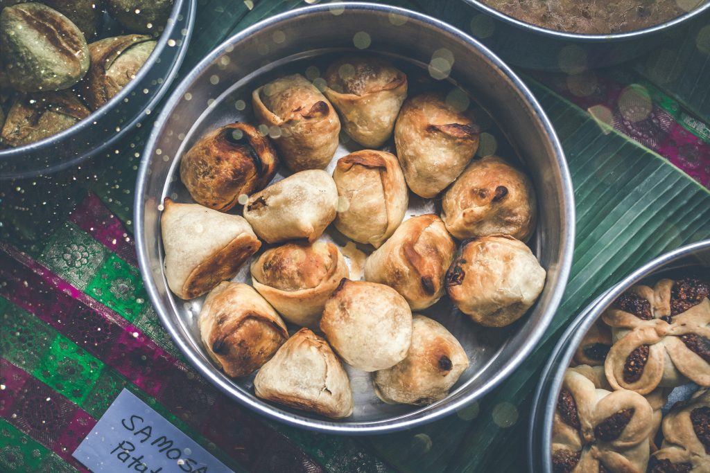
[[[165,279],[180,299],[205,294],[231,279],[261,247],[249,223],[236,215],[165,199],[160,217]]]

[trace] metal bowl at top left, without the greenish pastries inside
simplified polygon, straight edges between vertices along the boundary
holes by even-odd
[[[146,65],[107,104],[75,126],[36,143],[0,150],[0,180],[55,174],[89,158],[109,157],[157,106],[175,79],[190,43],[197,0],[175,0],[173,12]],[[104,30],[121,34],[114,21]],[[106,31],[104,31],[106,32]]]

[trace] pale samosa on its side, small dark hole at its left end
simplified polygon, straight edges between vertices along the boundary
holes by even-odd
[[[253,194],[244,205],[246,218],[268,243],[306,238],[314,242],[337,213],[338,189],[325,171],[312,169]]]

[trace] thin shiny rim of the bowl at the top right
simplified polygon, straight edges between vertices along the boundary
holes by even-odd
[[[665,21],[654,26],[649,26],[648,28],[627,31],[626,33],[608,33],[606,35],[592,35],[586,33],[569,33],[567,31],[553,30],[552,28],[544,28],[542,26],[537,26],[532,23],[527,23],[525,21],[518,20],[518,18],[515,18],[513,16],[508,16],[505,13],[494,9],[492,6],[484,4],[481,0],[462,1],[464,1],[466,4],[473,6],[476,9],[484,11],[484,13],[488,13],[488,15],[493,16],[494,18],[497,18],[498,20],[503,21],[504,23],[508,23],[509,25],[515,26],[516,28],[520,28],[523,30],[531,30],[535,33],[539,33],[545,36],[552,36],[553,38],[561,40],[577,40],[582,43],[610,43],[616,41],[644,38],[645,36],[652,35],[653,33],[658,33],[662,30],[666,30],[667,28],[672,28],[673,26],[676,26],[679,23],[683,23],[684,21],[689,21],[691,18],[694,18],[695,16],[698,16],[701,13],[710,10],[710,0],[705,0],[704,4],[697,6],[695,9],[688,11],[687,13],[684,13],[680,16],[676,16],[675,18],[672,18],[669,21]]]

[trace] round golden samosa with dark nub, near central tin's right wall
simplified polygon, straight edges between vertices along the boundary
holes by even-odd
[[[510,235],[525,242],[535,231],[536,205],[530,179],[491,155],[471,162],[444,193],[442,220],[459,240]]]

